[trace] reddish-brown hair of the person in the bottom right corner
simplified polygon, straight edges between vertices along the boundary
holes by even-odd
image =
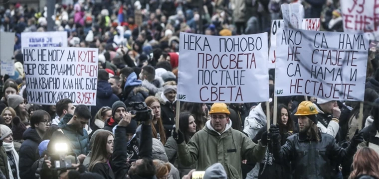
[[[360,175],[370,175],[379,178],[379,155],[373,149],[363,147],[353,160],[353,171],[349,179],[355,179]]]

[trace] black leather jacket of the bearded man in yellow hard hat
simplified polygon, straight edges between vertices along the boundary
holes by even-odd
[[[331,162],[342,163],[351,159],[357,148],[339,147],[333,136],[319,132],[320,141],[309,141],[302,133],[287,138],[286,143],[272,141],[274,158],[279,163],[291,162],[293,179],[331,179]]]

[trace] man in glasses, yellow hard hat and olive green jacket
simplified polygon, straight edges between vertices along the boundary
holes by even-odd
[[[197,161],[196,170],[205,171],[209,166],[221,163],[228,179],[242,179],[242,160],[260,162],[265,157],[267,132],[262,134],[258,144],[254,144],[245,134],[231,128],[230,112],[225,103],[214,103],[209,114],[211,120],[193,135],[188,144],[181,131],[174,131],[182,165],[190,166]]]

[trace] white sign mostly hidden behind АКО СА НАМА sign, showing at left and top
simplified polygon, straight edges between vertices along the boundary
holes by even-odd
[[[276,58],[276,32],[284,27],[284,20],[272,20],[271,23],[271,35],[270,35],[270,49],[268,54],[268,68],[275,68],[275,58]],[[302,29],[305,30],[320,30],[320,18],[306,18],[303,19]]]

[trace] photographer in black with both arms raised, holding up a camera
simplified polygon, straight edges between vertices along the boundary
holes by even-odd
[[[127,148],[126,141],[126,127],[130,124],[132,115],[127,112],[115,129],[114,151],[112,155],[112,169],[116,176],[116,179],[126,179],[129,176],[130,179],[154,179],[156,174],[156,168],[153,164],[152,155],[152,129],[151,129],[151,116],[150,119],[144,121],[142,124],[141,144],[139,147],[139,158],[136,162],[132,163],[129,167],[127,163]]]

